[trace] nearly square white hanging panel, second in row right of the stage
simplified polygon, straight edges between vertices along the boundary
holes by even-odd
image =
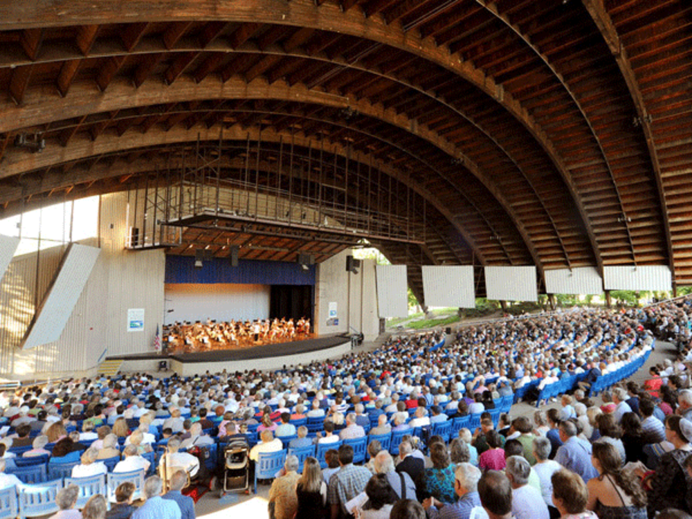
[[[427,307],[475,308],[473,266],[424,265],[422,269]]]

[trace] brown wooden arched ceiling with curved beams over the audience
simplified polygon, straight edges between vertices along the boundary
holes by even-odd
[[[4,214],[135,185],[144,150],[261,134],[415,188],[426,251],[390,252],[408,264],[668,264],[692,283],[684,0],[131,6],[3,8]],[[42,153],[13,145],[33,132]]]

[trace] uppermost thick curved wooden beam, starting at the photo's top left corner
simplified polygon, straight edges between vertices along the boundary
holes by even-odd
[[[34,0],[36,1],[36,0]],[[141,7],[141,6],[140,6]],[[32,11],[32,8],[36,8]],[[504,91],[502,85],[477,69],[471,62],[466,62],[459,55],[450,53],[446,46],[437,46],[433,39],[421,39],[415,31],[406,31],[401,24],[388,25],[380,16],[363,17],[358,10],[342,11],[338,6],[324,3],[316,6],[312,0],[292,0],[285,3],[279,0],[244,0],[242,2],[201,3],[196,0],[181,0],[175,6],[167,2],[147,3],[146,9],[136,12],[137,19],[147,21],[242,21],[255,24],[278,24],[315,28],[330,32],[338,31],[370,39],[379,44],[392,46],[401,51],[422,57],[451,71],[470,82],[477,89],[489,95],[504,109],[509,111],[529,133],[536,139],[553,161],[563,181],[570,190],[577,208],[589,233],[593,255],[601,264],[601,252],[591,228],[590,219],[581,203],[578,190],[572,182],[570,172],[556,147],[545,130],[534,120],[530,111],[522,103]],[[1,29],[35,28],[51,26],[86,26],[93,24],[110,24],[113,20],[131,19],[134,12],[126,4],[118,2],[94,3],[86,0],[73,0],[69,8],[64,5],[41,4],[33,6],[31,2],[12,4],[0,21]]]

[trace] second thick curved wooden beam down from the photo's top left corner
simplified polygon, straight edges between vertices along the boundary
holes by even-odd
[[[42,124],[39,120],[47,117],[45,110],[53,111],[54,113],[61,113],[60,110],[64,110],[64,112],[66,112],[65,117],[67,118],[81,118],[88,115],[90,113],[89,110],[93,110],[94,107],[98,107],[99,111],[116,112],[127,107],[145,107],[147,104],[174,104],[176,102],[191,100],[206,100],[211,96],[215,96],[217,99],[273,99],[287,102],[311,102],[328,107],[351,108],[365,116],[383,120],[394,127],[399,127],[399,129],[403,131],[407,131],[408,133],[426,140],[431,145],[448,154],[450,158],[461,158],[462,165],[466,170],[471,172],[471,174],[493,194],[493,197],[498,200],[503,210],[507,212],[507,215],[522,236],[534,263],[541,273],[543,272],[543,262],[540,260],[538,251],[536,251],[524,224],[520,221],[516,212],[514,212],[511,204],[504,199],[500,190],[488,179],[488,176],[482,171],[482,168],[473,162],[471,158],[468,158],[468,156],[453,143],[442,138],[436,132],[431,131],[426,125],[417,124],[415,121],[410,120],[405,113],[397,113],[392,109],[384,109],[379,105],[371,104],[367,99],[352,102],[348,98],[333,93],[308,90],[302,85],[288,86],[283,82],[276,82],[275,84],[268,85],[262,80],[255,80],[248,84],[240,78],[235,78],[228,82],[221,83],[217,78],[210,77],[197,84],[192,80],[182,78],[171,86],[151,83],[143,84],[139,89],[134,89],[131,85],[125,83],[114,83],[105,93],[94,92],[93,88],[88,84],[75,85],[75,88],[71,90],[66,98],[55,97],[48,106],[41,102],[37,105],[28,102],[25,107],[19,109],[19,111],[24,113],[24,116],[21,114],[16,115],[19,116],[18,119],[21,119],[26,127]],[[291,114],[288,113],[287,115]],[[0,127],[5,123],[11,124],[12,122],[9,117],[7,117],[7,120],[4,119],[5,116],[6,112],[0,110]],[[33,124],[29,125],[27,124],[29,122],[28,118],[32,116],[35,116],[38,120],[33,119],[31,121]],[[47,120],[45,122],[47,122]],[[354,131],[361,131],[355,127],[352,127],[352,129],[354,129]],[[370,135],[370,137],[383,140],[379,136]],[[395,145],[391,142],[388,142],[388,144]],[[40,156],[48,157],[48,151],[48,149],[44,150]],[[65,151],[65,149],[63,149],[63,151]],[[406,152],[406,150],[403,151]],[[14,155],[15,157],[17,156],[17,154]],[[30,156],[29,158],[37,157],[33,154],[28,155]],[[21,153],[19,153],[19,156],[21,156]],[[0,179],[21,173],[21,170],[17,170],[13,165],[13,159],[14,157],[12,155],[6,157],[6,164],[0,172]],[[430,165],[430,167],[435,169],[433,165]],[[31,169],[35,168],[31,167]],[[450,188],[457,191],[460,196],[466,197],[463,189],[460,188],[457,182],[448,178],[443,172],[438,171],[438,174],[450,184]],[[466,197],[466,199],[473,205],[472,200],[468,199],[468,197]],[[477,206],[475,209],[483,217],[482,210]],[[491,221],[485,217],[484,219],[486,225],[489,225],[492,229],[493,226]],[[495,230],[492,230],[492,233],[493,235],[498,235]],[[508,253],[507,257],[508,259],[511,258]]]

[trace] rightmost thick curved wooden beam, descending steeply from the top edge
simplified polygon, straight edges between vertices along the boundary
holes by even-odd
[[[605,8],[603,0],[582,0],[582,3],[589,15],[591,15],[596,26],[599,28],[599,32],[603,36],[605,44],[608,45],[610,53],[614,57],[615,62],[617,62],[617,66],[619,67],[622,77],[627,84],[627,88],[630,91],[630,97],[632,98],[632,103],[635,105],[635,109],[637,110],[637,116],[639,116],[639,125],[641,126],[641,130],[644,132],[646,147],[651,158],[651,167],[653,168],[653,172],[656,177],[656,187],[658,189],[658,198],[659,203],[661,204],[664,230],[666,233],[668,266],[670,266],[671,273],[673,273],[673,287],[675,287],[673,239],[671,236],[671,224],[668,219],[666,190],[663,185],[661,163],[658,160],[658,152],[654,140],[653,129],[651,128],[650,115],[646,110],[646,101],[644,100],[644,95],[641,94],[641,90],[639,89],[639,82],[637,82],[637,76],[635,75],[635,71],[632,69],[632,64],[630,64],[630,59],[627,55],[626,48],[620,42],[620,37],[617,34],[617,28],[615,28],[615,25],[612,23],[612,19],[610,19],[610,15],[608,15],[608,10]]]

